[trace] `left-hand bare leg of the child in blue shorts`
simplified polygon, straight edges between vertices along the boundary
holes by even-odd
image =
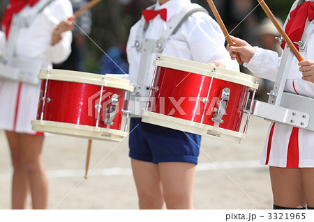
[[[140,209],[163,209],[163,189],[158,165],[131,159]]]

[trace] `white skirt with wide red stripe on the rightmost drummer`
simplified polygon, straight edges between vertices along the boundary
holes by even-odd
[[[314,132],[271,124],[260,164],[283,168],[314,167]]]

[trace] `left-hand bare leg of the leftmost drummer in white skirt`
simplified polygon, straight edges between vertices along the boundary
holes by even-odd
[[[8,138],[13,165],[12,209],[25,209],[29,181],[20,157],[20,136],[15,132],[6,132],[6,137]]]

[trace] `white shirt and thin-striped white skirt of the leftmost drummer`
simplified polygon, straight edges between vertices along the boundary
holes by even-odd
[[[27,17],[29,5],[20,13]],[[20,29],[15,45],[15,55],[42,61],[42,68],[52,68],[52,63],[61,63],[70,55],[72,33],[63,33],[56,45],[50,45],[52,30],[63,19],[73,15],[69,0],[54,0],[38,13],[31,24]],[[0,32],[0,51],[6,50],[5,34]],[[39,72],[39,70],[38,70]],[[1,79],[0,81],[0,129],[33,134],[31,120],[36,119],[40,85],[33,86]]]

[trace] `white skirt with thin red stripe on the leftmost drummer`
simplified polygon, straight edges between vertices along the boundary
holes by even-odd
[[[36,120],[40,84],[33,86],[17,81],[0,81],[0,129],[36,134],[31,120]]]

